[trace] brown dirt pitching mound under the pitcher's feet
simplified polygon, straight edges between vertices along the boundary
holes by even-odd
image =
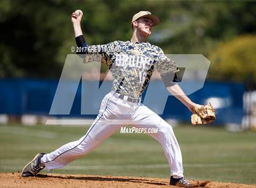
[[[255,185],[219,183],[213,181],[196,181],[194,187],[229,187],[249,188]],[[127,176],[96,176],[96,175],[60,175],[49,173],[36,177],[23,178],[20,173],[0,173],[1,187],[176,187],[169,186],[168,179],[127,177]]]

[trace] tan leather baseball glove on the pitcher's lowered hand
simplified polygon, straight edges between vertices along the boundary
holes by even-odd
[[[205,106],[197,104],[193,109],[193,114],[191,115],[191,123],[193,126],[210,124],[215,121],[215,119],[215,110],[210,102]]]

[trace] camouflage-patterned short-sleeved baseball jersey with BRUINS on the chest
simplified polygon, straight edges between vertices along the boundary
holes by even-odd
[[[156,69],[165,76],[179,71],[163,50],[149,42],[114,41],[104,45],[82,45],[85,54],[100,54],[113,76],[112,90],[140,98]],[[87,56],[85,56],[87,58]]]

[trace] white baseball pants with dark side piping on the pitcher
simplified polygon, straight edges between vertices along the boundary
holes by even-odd
[[[148,135],[162,145],[171,168],[171,175],[174,178],[182,177],[182,154],[172,127],[141,102],[129,102],[126,97],[120,99],[118,95],[113,91],[105,95],[99,115],[86,135],[43,156],[46,170],[66,166],[75,159],[87,155],[122,126],[130,125],[158,129],[157,133],[148,133]]]

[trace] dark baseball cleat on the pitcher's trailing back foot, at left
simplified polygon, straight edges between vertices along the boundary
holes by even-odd
[[[44,169],[44,164],[41,163],[41,158],[45,153],[38,153],[32,161],[27,163],[27,165],[23,168],[21,175],[23,177],[35,176],[40,170]]]

